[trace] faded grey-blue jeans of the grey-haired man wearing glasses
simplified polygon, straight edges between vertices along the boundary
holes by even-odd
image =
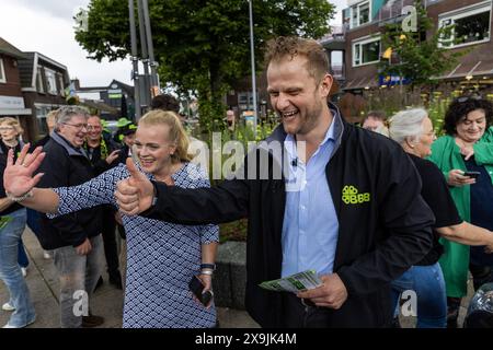
[[[104,264],[101,234],[89,238],[92,249],[88,255],[78,255],[71,245],[54,249],[54,262],[60,280],[61,328],[79,328],[82,325],[82,302],[94,291]],[[87,298],[81,298],[81,293]],[[88,305],[89,308],[89,305]]]

